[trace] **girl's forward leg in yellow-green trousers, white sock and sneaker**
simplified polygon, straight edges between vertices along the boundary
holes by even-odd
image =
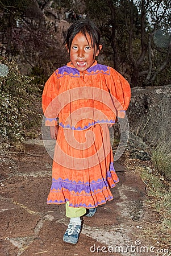
[[[69,207],[69,202],[66,203],[66,217],[70,218],[70,222],[64,234],[64,242],[77,243],[81,232],[81,216],[86,213],[86,209],[79,207]]]

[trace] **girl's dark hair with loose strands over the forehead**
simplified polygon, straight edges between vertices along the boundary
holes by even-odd
[[[77,20],[68,28],[64,43],[67,44],[69,52],[74,37],[80,32],[85,36],[86,39],[86,33],[89,34],[91,38],[91,46],[93,46],[94,48],[95,55],[95,46],[99,50],[101,34],[98,27],[95,26],[95,24],[91,22],[91,20]]]

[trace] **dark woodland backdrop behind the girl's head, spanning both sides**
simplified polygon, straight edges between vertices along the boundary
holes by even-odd
[[[77,14],[85,10],[98,25],[101,61],[122,73],[132,87],[169,83],[170,0],[0,1],[1,54],[19,56],[37,81],[44,82],[67,61],[62,48],[67,26],[63,30],[59,24],[64,11],[71,9]]]

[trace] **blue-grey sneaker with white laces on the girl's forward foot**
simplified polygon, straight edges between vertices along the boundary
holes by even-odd
[[[70,222],[63,237],[64,242],[73,243],[75,245],[78,242],[80,232],[81,225],[75,222]]]

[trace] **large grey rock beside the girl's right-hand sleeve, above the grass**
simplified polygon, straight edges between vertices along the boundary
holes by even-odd
[[[171,119],[171,85],[132,88],[130,106],[127,110],[132,134],[148,144],[159,139],[168,141]]]

